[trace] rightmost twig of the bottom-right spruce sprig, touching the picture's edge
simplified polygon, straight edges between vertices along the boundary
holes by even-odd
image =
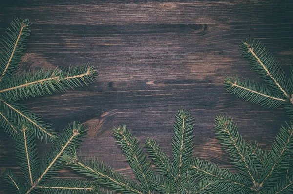
[[[282,163],[288,164],[290,156],[293,154],[292,137],[292,127],[289,125],[287,127],[282,126],[265,160],[265,177],[260,186],[263,186],[269,179],[271,179],[270,182],[278,180],[280,175],[287,171],[287,166],[282,165]],[[267,185],[270,186],[269,183]]]

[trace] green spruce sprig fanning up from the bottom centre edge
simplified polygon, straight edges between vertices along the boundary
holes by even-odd
[[[89,160],[84,162],[75,152],[63,157],[67,166],[75,171],[94,178],[95,182],[107,189],[125,194],[210,194],[212,183],[208,180],[198,182],[189,171],[193,151],[194,118],[186,110],[179,110],[176,115],[173,136],[173,160],[160,149],[155,140],[146,140],[146,150],[155,165],[151,162],[138,140],[125,125],[114,128],[114,136],[128,161],[134,175],[139,181],[128,180],[103,162]]]

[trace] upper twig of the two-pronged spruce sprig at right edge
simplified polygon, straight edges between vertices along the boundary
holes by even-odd
[[[260,41],[247,39],[241,45],[243,55],[250,60],[253,69],[259,73],[261,78],[266,81],[275,91],[280,91],[285,97],[288,95],[288,82],[285,72],[281,70],[280,65],[275,62],[269,52]]]

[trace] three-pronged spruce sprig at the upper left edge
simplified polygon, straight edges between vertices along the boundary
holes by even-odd
[[[6,36],[0,46],[0,125],[11,137],[16,137],[19,123],[26,123],[33,128],[34,135],[41,141],[53,140],[56,133],[41,116],[30,112],[17,100],[28,99],[56,92],[65,92],[70,88],[82,87],[93,83],[97,72],[89,64],[65,69],[55,68],[32,73],[16,74],[18,64],[30,35],[31,23],[28,19],[15,19],[7,28]]]

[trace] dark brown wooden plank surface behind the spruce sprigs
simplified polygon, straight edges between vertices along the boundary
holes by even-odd
[[[293,57],[290,0],[2,0],[0,35],[16,17],[33,25],[21,69],[90,62],[96,83],[64,94],[25,100],[31,111],[61,131],[81,120],[88,138],[81,151],[134,177],[113,126],[126,124],[141,144],[155,138],[171,155],[174,115],[196,119],[194,155],[231,167],[213,132],[214,117],[230,115],[245,140],[269,148],[288,120],[282,108],[261,108],[225,92],[226,75],[257,79],[241,57],[247,37],[267,44],[286,70]],[[39,144],[40,155],[49,145]],[[16,165],[13,142],[0,133],[0,170]],[[68,169],[58,178],[80,176]],[[0,183],[0,193],[8,193]]]

